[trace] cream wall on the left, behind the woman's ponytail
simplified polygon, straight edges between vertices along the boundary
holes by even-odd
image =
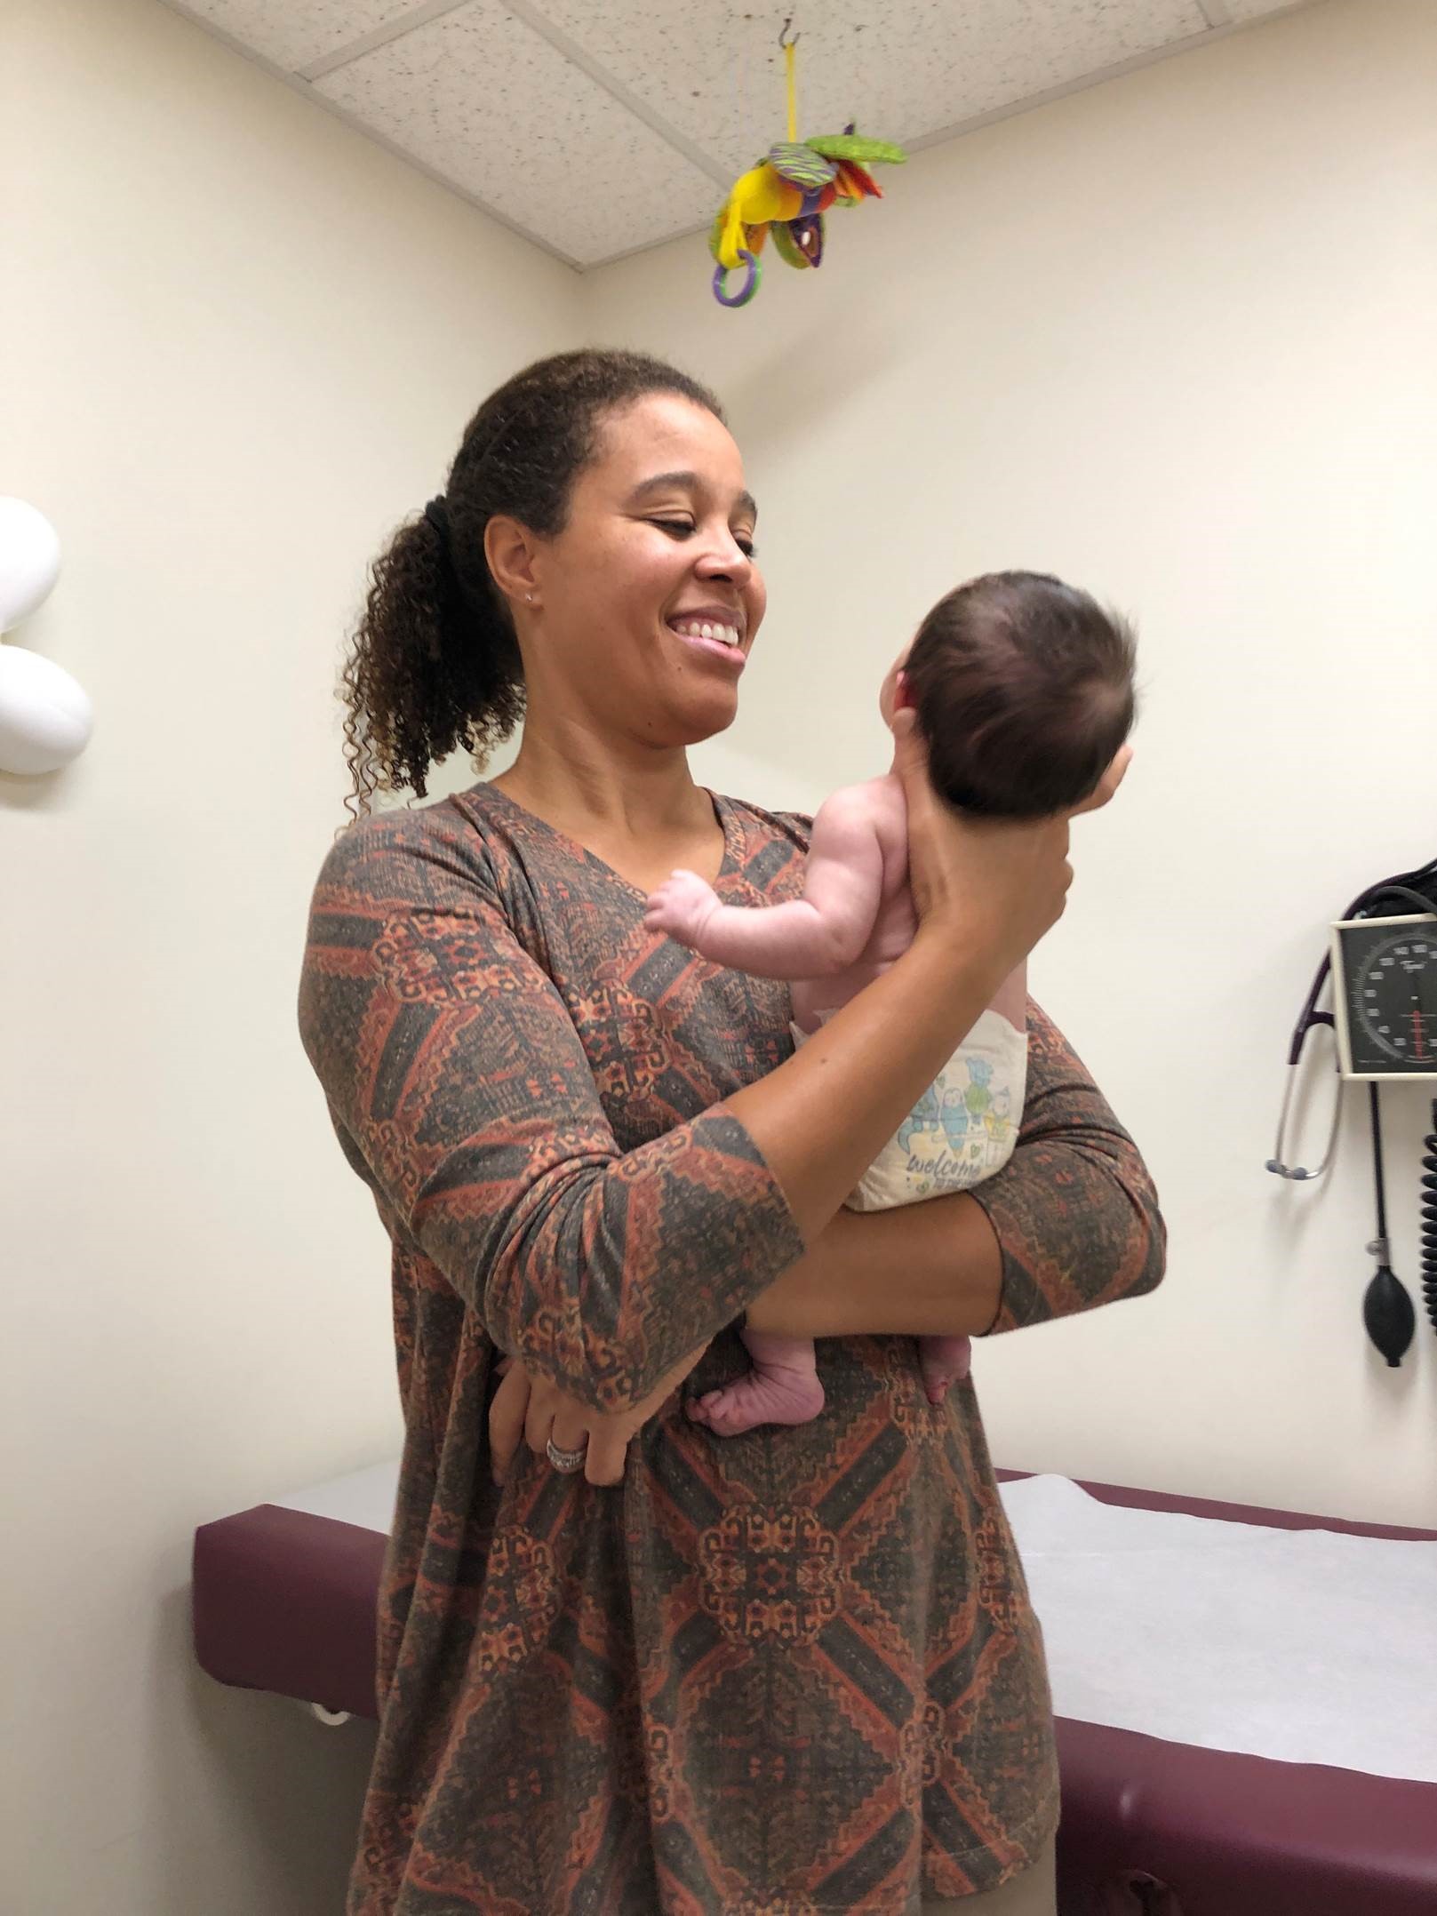
[[[295,1033],[364,563],[575,274],[153,0],[11,0],[0,492],[90,751],[0,778],[0,1906],[341,1906],[370,1736],[192,1667],[195,1523],[393,1454],[383,1240]]]

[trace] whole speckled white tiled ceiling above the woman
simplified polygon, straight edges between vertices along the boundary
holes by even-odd
[[[784,136],[931,144],[1311,0],[169,0],[577,266],[709,224]]]

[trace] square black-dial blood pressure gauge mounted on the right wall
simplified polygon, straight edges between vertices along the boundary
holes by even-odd
[[[1339,920],[1332,977],[1343,1077],[1437,1077],[1437,918]]]

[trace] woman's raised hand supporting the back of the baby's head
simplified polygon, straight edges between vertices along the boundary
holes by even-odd
[[[1067,824],[1106,805],[1123,782],[1132,749],[1123,745],[1083,805],[1052,818],[966,818],[945,805],[927,774],[927,747],[914,709],[893,715],[895,764],[908,803],[908,883],[920,935],[962,937],[1006,977],[1063,916],[1073,866]]]

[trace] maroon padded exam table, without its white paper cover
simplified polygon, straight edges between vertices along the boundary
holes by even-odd
[[[1107,1504],[1232,1523],[1437,1539],[1107,1483],[1083,1489]],[[201,1669],[224,1684],[376,1717],[383,1554],[379,1531],[278,1504],[205,1523],[194,1554]],[[1412,1676],[1437,1694],[1437,1669]],[[1437,1784],[1272,1763],[1063,1717],[1058,1753],[1063,1916],[1437,1916]]]

